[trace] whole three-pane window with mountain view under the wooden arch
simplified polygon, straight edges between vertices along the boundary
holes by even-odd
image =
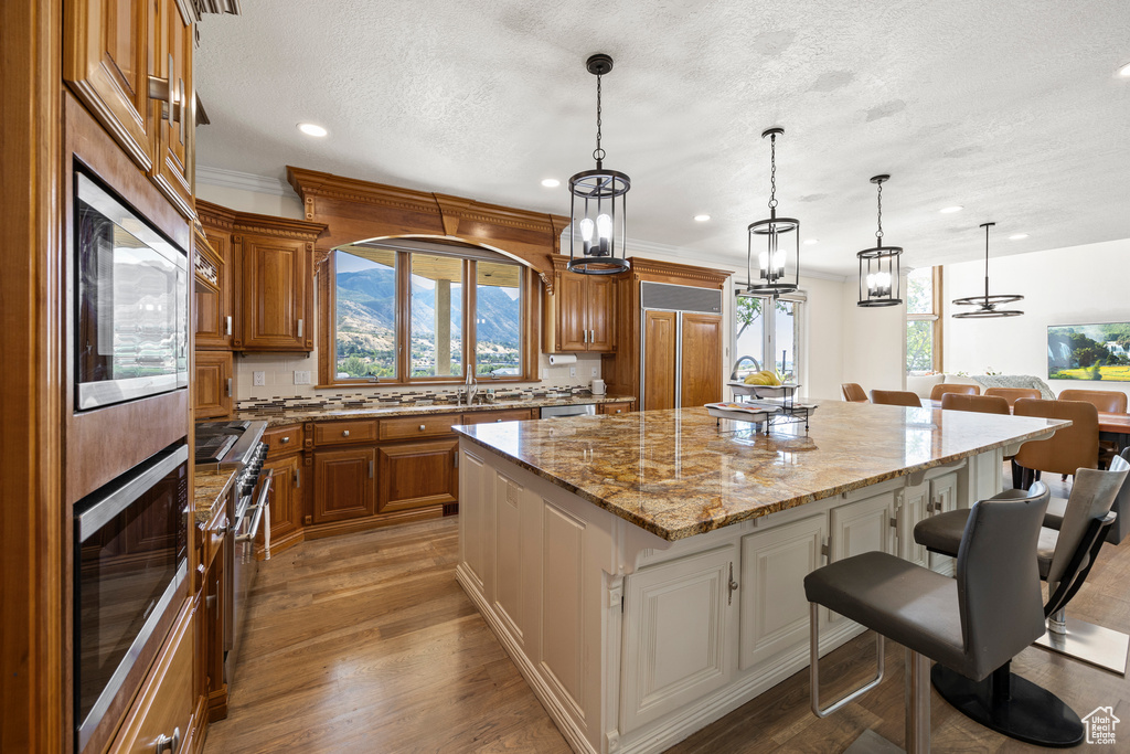
[[[525,268],[490,253],[338,249],[334,381],[522,378]]]

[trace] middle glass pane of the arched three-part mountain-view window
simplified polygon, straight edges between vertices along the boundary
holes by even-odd
[[[411,257],[411,376],[462,376],[463,260]]]

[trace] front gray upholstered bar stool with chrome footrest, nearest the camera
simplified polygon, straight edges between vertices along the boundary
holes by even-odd
[[[810,603],[812,712],[827,717],[883,679],[886,636],[910,650],[905,748],[929,752],[929,661],[939,664],[935,669],[945,666],[983,681],[1044,632],[1032,553],[1046,508],[1046,488],[974,503],[954,579],[886,553],[864,553],[809,573],[805,593]],[[819,699],[820,605],[879,635],[878,676],[826,709]]]

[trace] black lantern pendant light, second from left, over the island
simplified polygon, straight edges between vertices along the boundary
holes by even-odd
[[[765,129],[762,138],[770,138],[770,216],[750,223],[749,245],[746,251],[746,291],[748,293],[780,296],[792,293],[800,285],[800,220],[776,216],[776,138],[783,128]],[[764,239],[764,241],[763,241]],[[757,242],[758,277],[754,279],[754,242]],[[764,245],[763,245],[764,244]],[[791,270],[791,272],[790,272]]]

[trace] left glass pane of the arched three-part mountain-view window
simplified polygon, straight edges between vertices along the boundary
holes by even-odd
[[[334,253],[337,376],[394,376],[397,254],[359,246]]]

